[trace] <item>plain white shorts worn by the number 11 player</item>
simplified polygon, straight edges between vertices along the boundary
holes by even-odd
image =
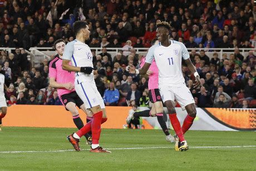
[[[170,86],[161,86],[159,87],[161,97],[163,102],[167,100],[176,100],[183,110],[185,110],[185,106],[188,104],[195,103],[194,97],[191,94],[188,87],[170,87]]]

